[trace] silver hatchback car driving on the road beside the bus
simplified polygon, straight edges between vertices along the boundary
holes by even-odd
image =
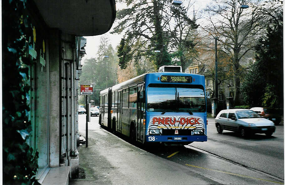
[[[275,132],[274,123],[262,118],[256,112],[249,109],[226,109],[221,110],[215,118],[218,133],[223,130],[240,132],[241,136],[261,133],[271,136]]]

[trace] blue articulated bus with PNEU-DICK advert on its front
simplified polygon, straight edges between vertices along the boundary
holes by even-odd
[[[207,141],[205,77],[146,73],[100,92],[99,124],[144,144]]]

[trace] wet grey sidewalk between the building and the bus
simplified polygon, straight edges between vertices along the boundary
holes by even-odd
[[[70,185],[217,184],[189,167],[127,143],[98,124],[88,128],[88,148],[85,144],[78,147],[79,167],[85,171],[85,179],[70,179]],[[80,135],[84,136],[85,130]]]

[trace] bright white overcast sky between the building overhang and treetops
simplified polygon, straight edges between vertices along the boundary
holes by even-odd
[[[189,0],[182,0],[182,2],[184,4],[188,4]],[[195,7],[195,12],[198,10],[203,9],[206,4],[208,4],[209,0],[195,0],[195,1],[191,1],[194,2],[194,7]],[[126,6],[121,4],[121,3],[116,3],[116,9],[123,9]],[[189,15],[189,17],[192,19],[193,18],[193,12],[191,15]],[[112,28],[110,29],[110,31],[108,31],[107,33],[103,34],[103,35],[97,35],[97,36],[88,36],[85,37],[87,39],[87,44],[85,46],[85,50],[86,50],[86,55],[82,58],[81,63],[84,63],[84,60],[86,59],[90,59],[90,58],[96,58],[96,53],[98,52],[98,46],[100,43],[100,37],[101,36],[105,36],[108,37],[111,41],[111,44],[113,46],[113,48],[115,49],[116,46],[120,43],[122,36],[123,35],[119,35],[119,34],[110,34],[110,32],[113,30],[113,28],[117,25],[116,20],[112,26]]]

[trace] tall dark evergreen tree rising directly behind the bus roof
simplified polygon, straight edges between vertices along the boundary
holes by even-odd
[[[137,63],[141,59],[153,61],[155,70],[163,65],[171,65],[168,47],[170,42],[174,41],[171,37],[177,37],[177,34],[174,34],[177,30],[172,28],[170,23],[175,22],[174,18],[180,17],[180,21],[187,23],[189,28],[195,25],[194,21],[187,18],[185,8],[172,5],[171,0],[122,2],[127,3],[128,8],[117,11],[117,19],[120,22],[113,31],[126,32],[118,48],[121,69],[125,69],[131,61]]]

